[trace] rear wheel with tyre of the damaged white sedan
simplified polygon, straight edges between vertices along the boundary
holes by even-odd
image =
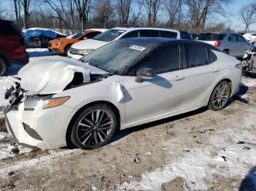
[[[230,98],[231,87],[227,81],[219,82],[211,93],[208,108],[214,111],[219,111],[227,105],[227,101]]]

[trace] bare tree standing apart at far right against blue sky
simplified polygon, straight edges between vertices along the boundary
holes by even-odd
[[[253,23],[256,23],[256,4],[247,4],[244,7],[241,7],[238,12],[241,19],[244,21],[245,29],[244,31],[249,31],[249,26]]]

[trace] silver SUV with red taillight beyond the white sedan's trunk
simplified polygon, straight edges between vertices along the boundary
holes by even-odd
[[[246,50],[252,47],[252,44],[246,42],[244,36],[238,33],[201,33],[197,40],[212,44],[236,58],[243,57]]]

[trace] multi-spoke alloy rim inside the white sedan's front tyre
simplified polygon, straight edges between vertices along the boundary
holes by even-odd
[[[95,109],[85,114],[76,128],[76,136],[80,144],[94,147],[102,144],[113,131],[113,119],[107,111]]]

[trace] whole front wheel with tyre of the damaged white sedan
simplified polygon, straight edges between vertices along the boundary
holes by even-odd
[[[69,141],[80,149],[97,149],[108,144],[117,126],[114,110],[106,104],[95,104],[78,114],[69,131]]]

